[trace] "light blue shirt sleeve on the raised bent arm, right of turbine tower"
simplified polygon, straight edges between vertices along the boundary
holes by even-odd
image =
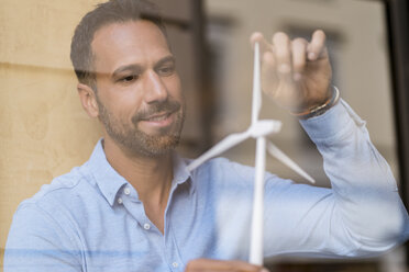
[[[325,114],[300,123],[323,157],[332,188],[267,175],[266,251],[371,257],[405,241],[408,214],[365,122],[341,100]]]

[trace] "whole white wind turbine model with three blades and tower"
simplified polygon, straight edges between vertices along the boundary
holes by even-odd
[[[189,171],[198,168],[204,161],[222,154],[235,145],[252,137],[256,138],[256,158],[255,158],[255,185],[253,199],[253,218],[250,245],[250,262],[253,264],[263,264],[263,201],[264,201],[264,172],[266,160],[266,148],[268,152],[291,168],[294,171],[314,183],[314,180],[279,150],[273,143],[266,143],[266,136],[276,134],[281,128],[281,122],[276,120],[258,120],[262,107],[262,88],[261,88],[261,60],[259,44],[254,44],[254,71],[253,71],[253,105],[252,105],[252,124],[247,131],[229,135],[210,150],[201,155],[187,167]]]

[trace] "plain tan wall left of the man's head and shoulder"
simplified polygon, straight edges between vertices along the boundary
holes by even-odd
[[[99,138],[69,61],[74,27],[95,2],[0,0],[0,248],[18,204],[87,160]]]

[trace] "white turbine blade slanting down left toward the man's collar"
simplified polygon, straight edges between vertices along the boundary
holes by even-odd
[[[224,152],[225,150],[232,148],[233,146],[242,143],[243,140],[250,138],[251,135],[248,131],[244,133],[235,133],[231,134],[219,144],[210,148],[208,151],[206,151],[203,155],[201,155],[199,158],[195,159],[194,161],[190,162],[190,165],[187,167],[189,171],[192,171],[194,169],[198,168],[201,163],[204,161]]]

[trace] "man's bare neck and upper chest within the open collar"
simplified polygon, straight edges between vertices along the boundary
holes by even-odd
[[[163,218],[173,180],[172,154],[131,156],[109,139],[103,141],[103,149],[108,162],[137,191],[146,215],[163,233]]]

